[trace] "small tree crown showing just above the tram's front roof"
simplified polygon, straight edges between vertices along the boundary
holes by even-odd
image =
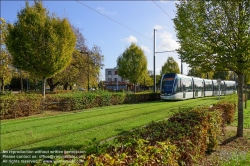
[[[180,68],[178,63],[174,60],[173,57],[168,57],[167,61],[161,67],[161,76],[166,73],[180,73]]]

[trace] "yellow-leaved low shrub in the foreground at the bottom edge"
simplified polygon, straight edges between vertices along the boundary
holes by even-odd
[[[169,165],[178,166],[179,153],[176,146],[170,142],[157,142],[155,145],[148,145],[143,139],[136,140],[137,146],[134,153],[121,151],[119,149],[112,153],[98,156],[87,156],[87,165]],[[127,148],[128,149],[128,148]]]

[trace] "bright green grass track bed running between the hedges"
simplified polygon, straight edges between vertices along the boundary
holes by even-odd
[[[2,150],[69,150],[80,148],[96,138],[106,140],[151,121],[169,117],[179,107],[209,105],[217,98],[178,102],[126,104],[1,121]]]

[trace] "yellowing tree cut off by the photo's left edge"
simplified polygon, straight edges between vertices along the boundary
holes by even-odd
[[[1,33],[1,54],[0,54],[0,91],[4,92],[4,85],[10,83],[12,78],[11,61],[12,57],[6,50],[5,37],[7,34],[7,24],[3,18],[0,18],[0,33]]]

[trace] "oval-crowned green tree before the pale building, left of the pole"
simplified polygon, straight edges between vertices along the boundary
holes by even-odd
[[[134,93],[136,83],[144,78],[147,71],[147,59],[143,50],[135,43],[132,43],[118,58],[117,71],[119,76],[129,80],[134,84]]]

